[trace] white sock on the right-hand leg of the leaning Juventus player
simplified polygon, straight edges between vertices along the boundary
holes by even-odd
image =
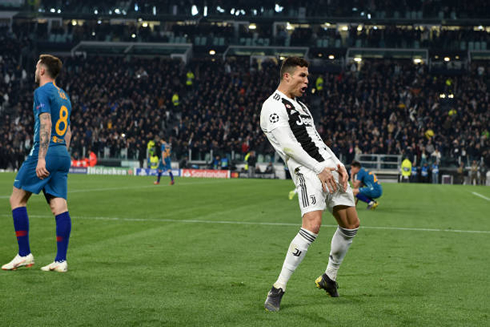
[[[328,265],[325,273],[331,280],[337,280],[337,271],[340,268],[340,264],[344,260],[352,239],[357,234],[359,228],[347,229],[338,227],[333,234],[332,243],[330,245],[330,256],[328,258]]]

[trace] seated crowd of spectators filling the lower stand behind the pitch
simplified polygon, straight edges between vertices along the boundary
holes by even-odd
[[[19,167],[33,135],[34,61],[29,41],[1,36],[0,168]],[[277,63],[249,59],[66,57],[58,83],[70,95],[72,155],[142,159],[147,141],[172,137],[174,160],[213,150],[237,158],[250,150],[274,156],[258,124],[262,102],[278,84]],[[195,78],[188,85],[187,72]],[[311,70],[312,72],[314,69]],[[490,65],[438,73],[402,61],[352,63],[310,76],[308,103],[324,139],[349,162],[356,154],[402,154],[420,163],[484,158],[490,165]],[[451,96],[450,96],[451,95]],[[444,98],[442,98],[442,96]],[[139,154],[139,158],[138,158]]]

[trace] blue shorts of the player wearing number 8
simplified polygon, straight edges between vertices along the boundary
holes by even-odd
[[[41,190],[45,193],[63,199],[67,199],[68,193],[68,171],[71,159],[66,146],[49,147],[46,155],[46,169],[49,176],[39,179],[36,175],[37,153],[29,155],[22,164],[15,177],[14,186],[24,191],[39,194]]]

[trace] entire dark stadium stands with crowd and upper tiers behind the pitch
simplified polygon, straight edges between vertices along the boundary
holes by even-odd
[[[287,175],[258,120],[281,58],[298,55],[311,63],[304,101],[345,163],[396,180],[404,157],[438,160],[439,183],[490,166],[488,1],[6,0],[0,42],[2,170],[32,146],[42,53],[64,61],[74,160],[92,151],[98,165],[146,167],[159,135],[175,168],[270,177],[273,162],[273,176]],[[243,171],[252,150],[257,174]]]

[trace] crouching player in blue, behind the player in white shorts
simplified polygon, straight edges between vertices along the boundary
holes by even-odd
[[[383,188],[378,178],[372,171],[362,168],[359,161],[353,161],[350,166],[355,197],[366,202],[368,204],[367,209],[376,209],[378,202],[375,199],[383,194]]]

